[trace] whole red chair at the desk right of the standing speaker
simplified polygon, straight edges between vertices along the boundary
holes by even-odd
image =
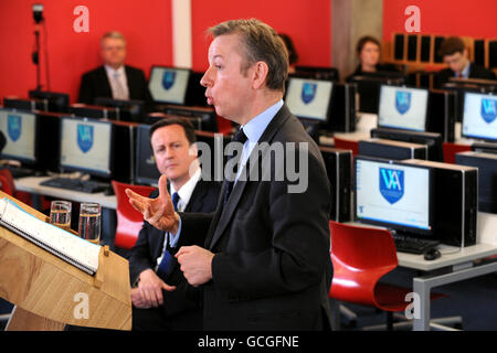
[[[405,296],[412,289],[379,281],[398,266],[390,231],[334,221],[329,226],[334,264],[329,298],[385,310],[387,327],[392,330],[393,312],[405,311],[411,304]],[[444,296],[433,293],[431,299],[441,297]]]

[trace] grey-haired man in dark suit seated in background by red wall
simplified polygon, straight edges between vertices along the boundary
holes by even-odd
[[[104,65],[82,76],[80,103],[92,105],[97,97],[151,101],[144,72],[125,65],[126,39],[121,33],[104,34],[101,41],[101,56]]]

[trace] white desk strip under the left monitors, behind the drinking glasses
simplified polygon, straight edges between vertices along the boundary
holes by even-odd
[[[51,178],[52,176],[27,176],[15,179],[15,189],[19,191],[75,202],[97,202],[102,207],[110,210],[116,210],[117,207],[116,195],[104,195],[103,192],[88,194],[85,192],[40,185],[41,182]]]

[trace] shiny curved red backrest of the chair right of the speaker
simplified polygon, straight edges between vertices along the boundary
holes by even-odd
[[[374,304],[378,280],[398,266],[396,249],[388,229],[330,221],[334,279],[329,297]]]

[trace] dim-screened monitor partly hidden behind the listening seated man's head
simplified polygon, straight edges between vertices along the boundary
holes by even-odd
[[[135,181],[138,184],[157,185],[160,172],[150,145],[150,125],[138,125],[136,131]]]

